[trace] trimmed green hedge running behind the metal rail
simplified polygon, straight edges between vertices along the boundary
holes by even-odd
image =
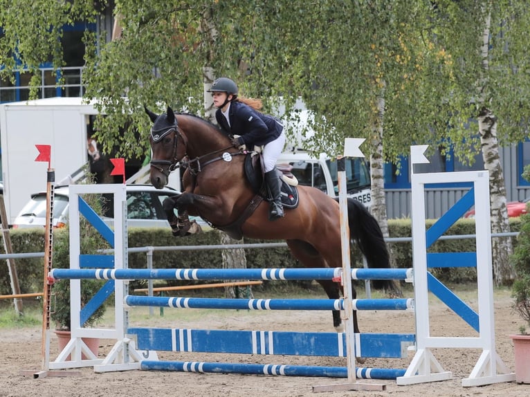
[[[434,221],[426,221],[427,227]],[[390,219],[388,221],[390,237],[410,237],[410,219]],[[518,232],[520,221],[510,220],[512,232]],[[56,230],[55,233],[61,233]],[[453,225],[447,234],[474,234],[475,223],[470,219],[461,219]],[[44,229],[11,230],[10,237],[14,252],[44,252]],[[129,229],[129,248],[146,246],[208,246],[219,245],[219,232],[212,230],[188,237],[173,237],[167,229]],[[245,239],[245,243],[270,243],[257,239]],[[278,241],[275,241],[278,242]],[[514,245],[516,239],[513,238]],[[393,266],[399,268],[412,267],[412,243],[388,243],[392,250]],[[429,252],[468,252],[475,250],[474,239],[456,239],[437,241]],[[1,250],[3,253],[3,249]],[[246,249],[248,268],[291,268],[300,264],[291,256],[288,248],[251,248]],[[352,250],[356,261],[353,266],[362,266],[358,255]],[[40,258],[17,259],[17,275],[22,293],[32,293],[42,290],[44,260]],[[145,268],[147,255],[145,252],[129,253],[129,268]],[[153,254],[154,268],[221,268],[221,250],[197,251],[156,251]],[[473,268],[444,268],[434,269],[433,273],[444,282],[468,282],[475,280]],[[276,282],[276,281],[275,281]],[[132,288],[143,285],[140,281],[131,284]],[[168,284],[176,284],[169,282]],[[307,285],[307,283],[298,283]],[[268,283],[264,284],[268,288]],[[0,295],[10,294],[10,277],[8,266],[0,267]]]

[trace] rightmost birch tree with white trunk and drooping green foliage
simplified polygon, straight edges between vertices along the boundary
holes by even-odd
[[[452,62],[444,104],[455,156],[470,161],[482,152],[490,175],[492,232],[509,232],[499,147],[528,136],[530,75],[526,1],[437,1],[432,33]],[[496,284],[513,279],[509,239],[493,239]]]

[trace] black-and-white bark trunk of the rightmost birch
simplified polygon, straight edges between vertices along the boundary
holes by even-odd
[[[510,224],[506,211],[506,187],[504,187],[504,174],[502,174],[497,142],[497,117],[490,109],[484,107],[479,113],[478,120],[484,168],[489,172],[491,232],[508,233]],[[491,248],[495,284],[497,286],[509,284],[515,278],[515,273],[509,263],[509,255],[512,251],[511,239],[495,237],[491,240]]]

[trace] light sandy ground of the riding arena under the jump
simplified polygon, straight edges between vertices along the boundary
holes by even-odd
[[[473,299],[472,299],[473,300]],[[469,302],[471,306],[476,305]],[[495,332],[497,353],[513,370],[513,345],[509,334],[518,330],[521,321],[512,313],[509,293],[495,294]],[[170,309],[166,309],[170,310]],[[196,312],[197,313],[197,312]],[[331,331],[331,315],[324,312],[286,311],[221,311],[185,316],[174,320],[170,314],[160,317],[158,309],[148,319],[147,315],[132,317],[134,325],[181,327],[196,329],[248,329],[266,331]],[[138,320],[139,319],[139,320]],[[410,312],[363,311],[359,313],[361,331],[400,332],[414,330],[414,317]],[[138,320],[138,322],[136,322]],[[476,335],[469,327],[455,317],[445,306],[435,303],[430,315],[431,334]],[[178,323],[178,324],[177,324]],[[91,368],[80,369],[81,376],[66,378],[38,378],[22,376],[21,370],[37,371],[41,368],[40,328],[0,330],[0,396],[528,396],[530,385],[516,382],[500,383],[484,387],[464,388],[462,378],[472,371],[479,356],[473,349],[437,349],[435,357],[446,371],[453,372],[453,379],[421,385],[397,386],[392,380],[359,380],[364,383],[386,385],[385,391],[333,391],[314,394],[313,385],[343,383],[345,380],[332,378],[293,378],[279,376],[225,375],[206,373],[172,373],[156,371],[123,371],[115,373],[94,373]],[[110,340],[100,341],[100,356],[112,347]],[[51,356],[57,355],[55,335],[51,342]],[[228,362],[259,362],[273,364],[331,365],[345,366],[345,358],[306,358],[279,356],[234,356],[197,353],[159,353],[161,359],[205,360]],[[369,358],[364,367],[406,368],[411,360],[383,360]]]

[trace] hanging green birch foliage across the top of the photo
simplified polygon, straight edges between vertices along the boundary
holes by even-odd
[[[316,114],[314,151],[340,152],[345,137],[369,138],[384,92],[386,160],[408,154],[411,144],[445,145],[447,138],[457,156],[471,158],[470,118],[482,94],[499,116],[501,143],[520,140],[530,114],[530,6],[488,4],[120,0],[114,11],[122,37],[105,43],[106,32],[86,35],[86,97],[98,98],[107,113],[100,140],[126,157],[147,151],[147,139],[138,138],[148,128],[143,104],[203,112],[208,66],[235,79],[243,95],[268,102],[266,111],[279,96],[287,111],[301,97]],[[3,75],[36,71],[46,59],[61,66],[62,26],[98,12],[90,0],[0,0]],[[488,12],[484,75],[479,49]]]

